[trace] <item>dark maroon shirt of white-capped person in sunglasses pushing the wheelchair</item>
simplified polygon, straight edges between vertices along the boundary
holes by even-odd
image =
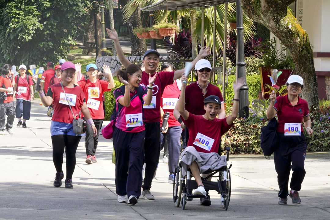
[[[206,91],[206,95],[204,95],[203,89],[198,85],[198,82],[187,85],[185,91],[185,110],[196,115],[205,114],[204,99],[210,95],[218,96],[221,103],[223,103],[220,89],[217,86],[209,83]]]

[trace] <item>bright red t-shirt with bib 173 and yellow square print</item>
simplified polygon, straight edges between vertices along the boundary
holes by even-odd
[[[109,82],[96,79],[93,83],[89,79],[82,79],[78,82],[86,97],[86,104],[93,119],[104,119],[102,95],[108,89]]]

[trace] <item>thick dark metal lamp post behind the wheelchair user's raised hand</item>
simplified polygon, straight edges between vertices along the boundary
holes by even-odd
[[[243,10],[241,0],[236,0],[236,22],[237,22],[237,51],[236,51],[236,79],[243,78],[246,81],[246,62],[244,62],[244,27],[243,27]],[[248,117],[249,101],[248,101],[248,86],[245,85],[239,92],[239,117]]]

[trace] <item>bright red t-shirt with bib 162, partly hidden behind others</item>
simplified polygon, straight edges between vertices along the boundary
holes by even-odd
[[[173,84],[165,87],[163,95],[160,99],[160,106],[164,113],[165,111],[170,112],[170,116],[167,121],[169,127],[180,126],[180,122],[178,122],[173,115],[173,110],[179,100],[178,96],[180,96],[180,92],[181,90],[175,80]],[[160,126],[162,126],[162,122],[160,122]]]

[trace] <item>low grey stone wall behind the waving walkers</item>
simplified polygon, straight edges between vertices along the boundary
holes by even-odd
[[[126,56],[126,58],[132,63],[142,63],[142,56]],[[167,58],[167,56],[160,56],[160,59],[165,58]],[[115,73],[118,69],[121,68],[121,63],[117,56],[98,56],[96,58],[96,66],[100,68],[103,65],[110,66],[112,73]]]

